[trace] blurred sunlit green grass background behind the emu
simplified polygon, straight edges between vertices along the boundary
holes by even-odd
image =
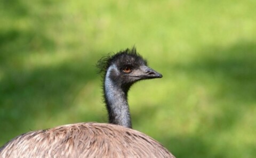
[[[256,1],[0,1],[0,145],[107,122],[95,63],[137,46],[133,128],[177,157],[255,157]]]

